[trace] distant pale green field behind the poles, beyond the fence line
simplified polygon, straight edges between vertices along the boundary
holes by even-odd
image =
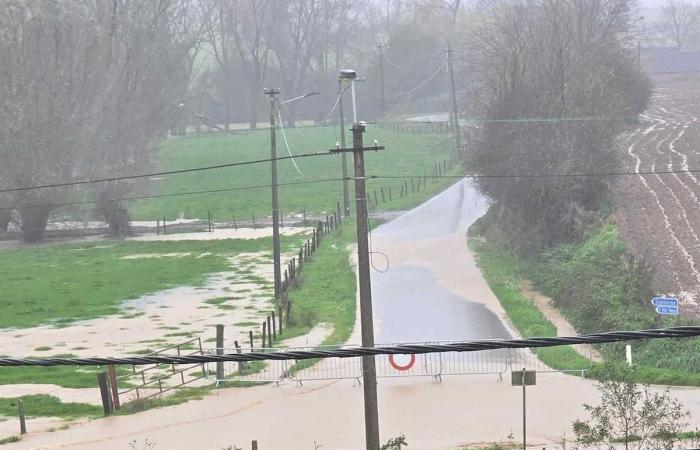
[[[289,145],[294,154],[328,152],[335,147],[337,136],[335,127],[297,128],[286,130]],[[348,136],[349,137],[349,136]],[[368,152],[365,155],[368,176],[423,176],[431,175],[435,162],[449,159],[453,154],[453,143],[444,134],[397,134],[367,126],[365,143],[371,145],[377,139],[386,150]],[[269,158],[270,135],[267,130],[243,135],[207,135],[170,139],[161,145],[155,171],[167,171],[249,161]],[[281,133],[278,133],[278,156],[286,156]],[[278,162],[279,183],[295,183],[318,179],[340,178],[341,156],[323,155],[296,160],[301,174],[290,160]],[[348,155],[348,170],[352,174],[352,155]],[[262,163],[204,172],[157,177],[151,181],[152,194],[180,193],[211,189],[229,189],[241,186],[258,186],[270,183],[270,164]],[[401,208],[398,198],[404,180],[382,179],[368,182],[368,194],[373,190],[391,187],[392,199],[396,204],[379,205],[379,209]],[[431,182],[428,182],[431,184]],[[351,198],[354,192],[349,183]],[[336,202],[342,201],[342,182],[331,181],[310,184],[280,186],[280,209],[283,214],[307,211],[332,211]],[[270,215],[270,188],[236,190],[231,192],[161,197],[131,201],[128,205],[132,218],[155,220],[166,217],[175,219],[178,215],[186,218],[206,218],[211,210],[214,220],[251,220]]]

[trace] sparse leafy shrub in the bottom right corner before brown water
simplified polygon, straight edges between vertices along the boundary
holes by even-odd
[[[690,413],[668,389],[652,392],[635,384],[636,374],[626,366],[606,366],[605,372],[598,383],[600,404],[584,404],[590,419],[573,423],[577,443],[672,450]]]

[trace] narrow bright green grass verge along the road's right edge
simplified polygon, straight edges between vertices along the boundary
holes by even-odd
[[[557,329],[532,300],[520,289],[524,263],[497,244],[480,239],[469,239],[479,268],[491,290],[496,294],[508,317],[523,337],[553,337]],[[568,346],[539,348],[535,353],[540,360],[558,370],[582,370],[591,362]]]

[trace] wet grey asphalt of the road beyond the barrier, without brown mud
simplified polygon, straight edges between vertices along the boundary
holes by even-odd
[[[385,249],[383,255],[373,255],[372,297],[380,324],[377,343],[512,337],[476,294],[447,289],[435,274],[437,267],[401,257],[403,250],[418,252],[425,244],[440,247],[437,241],[445,239],[461,240],[466,247],[467,228],[486,208],[471,183],[460,181],[372,232],[373,244]]]

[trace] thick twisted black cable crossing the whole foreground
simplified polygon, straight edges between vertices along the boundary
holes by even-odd
[[[95,358],[0,358],[0,367],[103,366],[147,364],[204,364],[212,362],[284,361],[315,358],[354,358],[376,355],[419,355],[425,353],[478,352],[498,349],[546,348],[577,344],[605,344],[642,339],[690,338],[700,336],[700,326],[680,326],[636,331],[609,331],[581,336],[485,339],[435,344],[398,344],[373,347],[345,347],[334,350],[289,350],[229,353],[226,355],[133,356]]]

